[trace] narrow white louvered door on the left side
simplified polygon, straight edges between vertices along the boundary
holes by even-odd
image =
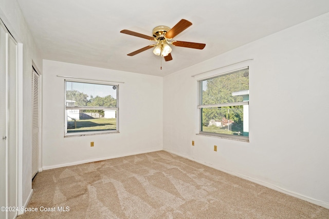
[[[39,74],[32,71],[32,178],[39,170]]]

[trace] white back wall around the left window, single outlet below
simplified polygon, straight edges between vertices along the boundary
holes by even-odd
[[[162,150],[162,77],[48,60],[43,72],[44,169]],[[64,78],[57,75],[124,82],[120,133],[64,137]]]

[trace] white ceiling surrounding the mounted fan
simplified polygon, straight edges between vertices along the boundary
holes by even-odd
[[[328,0],[17,0],[44,59],[164,76],[329,12]],[[205,43],[203,50],[174,47],[165,62],[153,44],[120,33],[152,36],[180,19],[192,26],[175,40]]]

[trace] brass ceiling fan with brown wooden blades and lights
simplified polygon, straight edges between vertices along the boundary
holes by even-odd
[[[137,33],[131,30],[121,30],[120,33],[125,33],[145,39],[149,39],[150,41],[155,41],[156,44],[152,44],[149,46],[145,46],[141,49],[138,49],[132,53],[129,53],[127,55],[133,56],[140,52],[143,52],[145,50],[151,49],[154,47],[153,53],[155,55],[161,55],[165,58],[165,61],[171,61],[173,58],[171,56],[171,47],[169,45],[173,46],[179,46],[179,47],[187,47],[192,49],[203,49],[205,48],[206,44],[200,44],[200,43],[191,43],[191,42],[185,42],[185,41],[171,41],[172,38],[177,36],[179,33],[184,31],[186,28],[190,27],[192,25],[191,22],[187,21],[186,19],[181,19],[173,28],[167,27],[167,26],[157,26],[153,29],[152,33],[153,36],[144,35],[141,33]]]

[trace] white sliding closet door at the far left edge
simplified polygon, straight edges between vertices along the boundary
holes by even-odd
[[[0,20],[0,218],[17,211],[17,43]],[[8,207],[8,209],[6,209]]]

